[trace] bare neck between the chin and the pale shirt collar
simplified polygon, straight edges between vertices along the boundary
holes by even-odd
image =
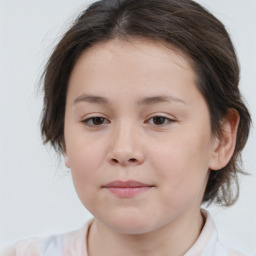
[[[145,234],[115,232],[96,219],[89,231],[88,253],[89,256],[180,256],[192,247],[202,227],[203,217],[199,210],[193,216],[181,216]]]

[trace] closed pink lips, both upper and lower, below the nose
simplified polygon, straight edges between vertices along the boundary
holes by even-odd
[[[103,186],[103,188],[106,188],[113,194],[123,198],[136,196],[138,194],[141,194],[149,190],[152,187],[154,186],[149,184],[144,184],[134,180],[128,180],[128,181],[117,180]]]

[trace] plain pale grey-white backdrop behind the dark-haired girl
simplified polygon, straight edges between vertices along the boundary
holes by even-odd
[[[92,2],[92,1],[90,1]],[[256,117],[256,1],[198,0],[230,32],[241,65],[241,92]],[[38,89],[44,64],[85,0],[0,0],[0,249],[18,239],[67,232],[91,215],[62,159],[42,145]],[[240,198],[210,207],[219,235],[256,252],[256,131],[243,153]]]

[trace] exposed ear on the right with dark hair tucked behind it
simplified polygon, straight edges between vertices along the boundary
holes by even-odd
[[[209,169],[220,170],[231,159],[235,146],[240,116],[235,109],[229,109],[221,122],[221,134],[213,143],[213,154]]]

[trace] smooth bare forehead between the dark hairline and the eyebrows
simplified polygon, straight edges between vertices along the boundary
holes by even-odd
[[[114,98],[133,92],[142,97],[173,90],[179,96],[187,89],[198,93],[195,81],[190,61],[177,49],[146,39],[115,39],[81,54],[70,76],[68,94],[86,91]]]

